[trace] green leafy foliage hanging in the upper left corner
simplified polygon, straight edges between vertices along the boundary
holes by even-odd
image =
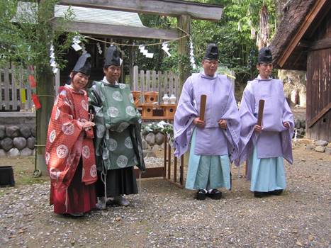
[[[13,64],[36,69],[49,66],[50,45],[55,45],[58,67],[64,67],[64,52],[74,34],[65,37],[64,30],[72,18],[72,11],[57,19],[52,28],[54,6],[58,0],[29,1],[0,0],[0,67]],[[22,4],[23,3],[23,4]]]

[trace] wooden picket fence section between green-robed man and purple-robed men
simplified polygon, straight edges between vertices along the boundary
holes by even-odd
[[[159,92],[159,103],[162,102],[162,96],[169,94],[176,96],[177,101],[180,96],[179,74],[173,72],[144,71],[133,67],[133,91],[157,91]],[[143,96],[141,96],[143,97]],[[142,101],[142,99],[141,99]]]

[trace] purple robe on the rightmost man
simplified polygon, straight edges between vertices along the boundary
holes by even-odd
[[[260,99],[265,101],[262,132],[256,133],[254,125],[257,124]],[[291,143],[294,130],[293,114],[284,96],[281,80],[258,77],[248,81],[240,104],[240,118],[241,142],[237,165],[249,158],[255,145],[259,159],[284,157],[289,163],[293,163]],[[284,122],[290,125],[289,129],[284,127]]]

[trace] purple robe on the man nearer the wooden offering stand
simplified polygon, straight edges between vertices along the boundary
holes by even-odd
[[[239,151],[240,117],[232,84],[220,74],[208,77],[197,73],[186,80],[174,116],[174,155],[180,157],[188,150],[193,119],[200,115],[202,94],[207,96],[205,127],[196,128],[194,154],[229,155],[232,161]],[[227,121],[226,130],[218,125],[220,119]]]

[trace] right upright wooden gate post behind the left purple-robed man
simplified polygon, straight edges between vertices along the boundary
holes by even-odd
[[[186,16],[186,15],[179,16],[177,18],[177,23],[178,23],[177,26],[179,28],[181,28],[182,30],[184,30],[186,33],[191,32],[191,16]],[[180,32],[181,36],[186,35],[186,33]],[[189,57],[189,37],[182,38],[181,40],[179,40],[178,54],[179,54],[179,57]],[[184,82],[190,75],[190,72],[188,69],[188,67],[190,66],[189,60],[187,60],[187,63],[188,64],[184,64],[184,62],[181,62],[181,60],[179,60],[179,84],[180,84],[179,91],[180,92],[181,92],[181,88],[184,85]]]

